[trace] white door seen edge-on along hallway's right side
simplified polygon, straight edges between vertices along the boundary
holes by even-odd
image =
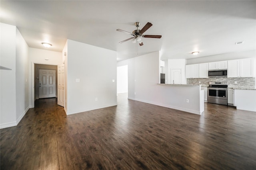
[[[58,102],[57,104],[64,107],[64,83],[65,83],[65,76],[64,76],[64,72],[65,72],[65,66],[64,64],[60,64],[58,65]]]

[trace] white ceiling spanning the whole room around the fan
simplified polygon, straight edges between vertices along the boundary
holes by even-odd
[[[29,47],[62,51],[66,40],[114,50],[118,61],[136,57],[134,22],[153,24],[144,34],[139,55],[161,51],[162,60],[256,49],[256,1],[4,1],[2,23],[16,25]],[[236,41],[244,41],[235,45]]]

